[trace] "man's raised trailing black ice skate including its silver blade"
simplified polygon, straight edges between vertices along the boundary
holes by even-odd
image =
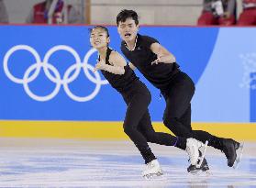
[[[239,160],[242,155],[243,144],[240,144],[239,142],[231,138],[223,139],[222,143],[222,151],[224,152],[228,160],[228,167],[233,167],[235,169],[238,166]],[[239,151],[239,155],[237,155],[237,150]]]

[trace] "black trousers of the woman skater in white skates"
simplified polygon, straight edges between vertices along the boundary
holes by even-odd
[[[177,138],[167,133],[155,132],[150,120],[148,106],[151,95],[144,83],[139,80],[133,83],[128,92],[122,94],[128,108],[124,120],[124,131],[134,142],[145,160],[152,158],[147,142],[173,146]],[[148,156],[148,157],[147,157]],[[147,163],[147,161],[146,161]]]

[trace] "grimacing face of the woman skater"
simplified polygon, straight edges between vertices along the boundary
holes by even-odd
[[[91,45],[95,49],[101,49],[108,45],[109,37],[107,37],[106,31],[103,28],[93,28],[90,35]]]

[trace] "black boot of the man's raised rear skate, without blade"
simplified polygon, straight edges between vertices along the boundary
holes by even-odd
[[[236,142],[231,138],[224,138],[222,144],[222,151],[225,153],[228,160],[228,167],[232,167],[237,159],[236,149],[239,149],[239,142]]]

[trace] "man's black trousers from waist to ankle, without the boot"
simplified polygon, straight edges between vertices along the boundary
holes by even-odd
[[[184,72],[174,75],[168,90],[161,91],[166,107],[163,124],[174,135],[184,138],[195,138],[202,142],[209,141],[209,146],[221,149],[219,139],[206,131],[193,130],[191,127],[191,100],[195,94],[195,83]]]

